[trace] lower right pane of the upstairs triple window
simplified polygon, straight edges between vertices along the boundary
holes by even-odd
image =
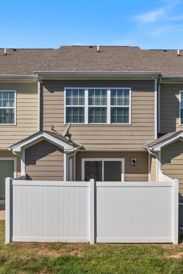
[[[129,123],[129,108],[111,108],[112,123]]]

